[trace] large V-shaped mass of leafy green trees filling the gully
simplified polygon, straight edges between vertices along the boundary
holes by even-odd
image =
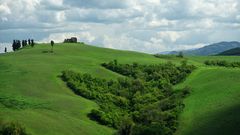
[[[195,66],[186,62],[180,66],[118,64],[117,60],[102,65],[126,77],[105,80],[73,71],[62,74],[76,94],[100,106],[91,111],[91,119],[118,129],[121,135],[172,135],[176,131],[182,101],[190,88],[176,91],[172,86],[183,81]]]

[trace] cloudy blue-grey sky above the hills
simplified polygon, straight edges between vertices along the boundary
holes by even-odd
[[[146,53],[240,41],[240,0],[0,0],[0,43],[71,36]]]

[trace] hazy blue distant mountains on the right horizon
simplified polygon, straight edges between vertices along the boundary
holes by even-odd
[[[202,48],[194,49],[194,50],[183,50],[183,51],[171,51],[171,52],[163,52],[160,54],[178,54],[179,52],[183,52],[184,55],[217,55],[221,52],[238,48],[240,47],[240,42],[232,41],[232,42],[219,42],[211,45],[204,46]]]

